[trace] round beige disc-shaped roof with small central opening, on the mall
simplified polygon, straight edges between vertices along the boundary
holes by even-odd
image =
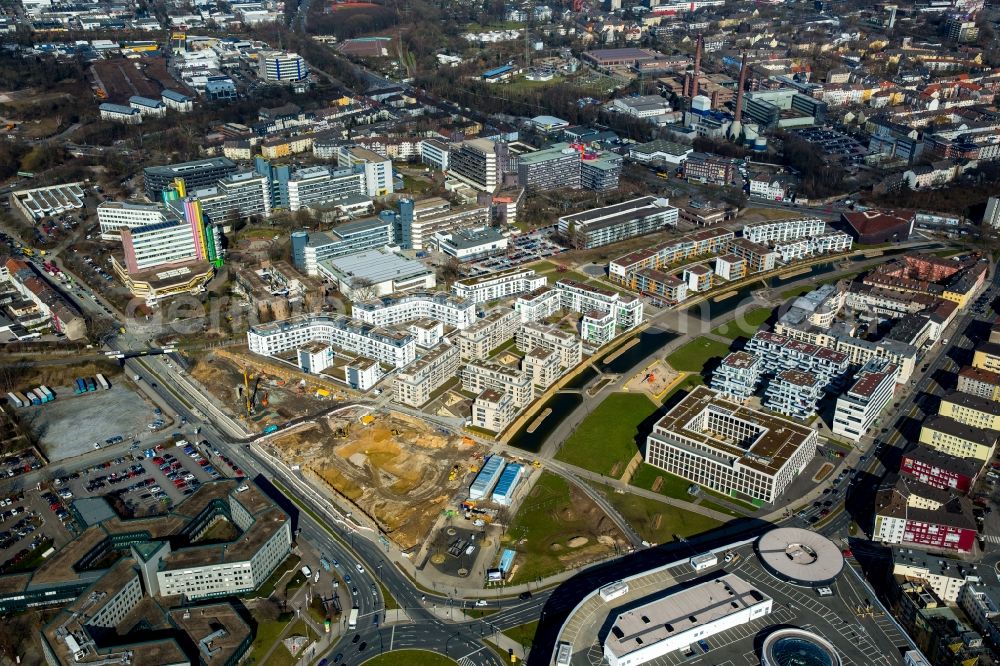
[[[801,527],[777,527],[757,539],[754,550],[772,576],[792,585],[829,585],[844,569],[835,543]]]

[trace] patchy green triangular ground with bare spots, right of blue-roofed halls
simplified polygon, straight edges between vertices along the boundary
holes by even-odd
[[[624,545],[621,530],[578,487],[542,472],[503,537],[519,554],[510,583],[525,583],[608,557]]]

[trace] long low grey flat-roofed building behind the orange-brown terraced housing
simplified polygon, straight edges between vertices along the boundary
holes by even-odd
[[[574,247],[591,249],[677,226],[677,209],[667,199],[639,197],[559,218],[559,233]]]

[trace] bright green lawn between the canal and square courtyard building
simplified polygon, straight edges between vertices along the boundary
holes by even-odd
[[[563,443],[556,458],[598,474],[621,478],[638,451],[639,424],[656,411],[643,393],[612,393]]]

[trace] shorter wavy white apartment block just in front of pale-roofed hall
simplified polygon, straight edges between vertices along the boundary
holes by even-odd
[[[353,304],[351,316],[375,326],[396,326],[414,319],[435,319],[464,330],[476,323],[476,304],[443,291],[396,293]]]

